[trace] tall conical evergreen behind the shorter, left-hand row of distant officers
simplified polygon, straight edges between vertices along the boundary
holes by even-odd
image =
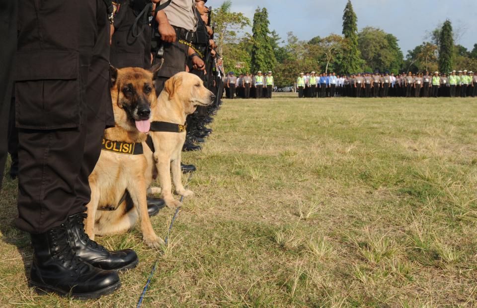
[[[270,39],[270,30],[268,29],[268,12],[264,7],[257,8],[253,15],[252,27],[252,51],[251,51],[251,69],[256,71],[268,71],[275,68],[276,59]]]

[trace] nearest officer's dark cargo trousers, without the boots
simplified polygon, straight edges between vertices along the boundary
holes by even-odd
[[[85,211],[88,176],[114,125],[102,0],[18,1],[16,225],[41,233]],[[38,25],[41,27],[38,27]]]

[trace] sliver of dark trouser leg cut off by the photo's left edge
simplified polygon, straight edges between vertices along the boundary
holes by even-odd
[[[13,88],[17,1],[0,0],[0,190],[8,149],[8,117]]]

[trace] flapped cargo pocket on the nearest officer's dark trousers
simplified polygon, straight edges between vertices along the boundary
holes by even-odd
[[[79,53],[21,51],[16,61],[16,126],[39,130],[79,127]]]

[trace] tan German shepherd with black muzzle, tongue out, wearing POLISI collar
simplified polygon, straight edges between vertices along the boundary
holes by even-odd
[[[142,144],[151,126],[151,108],[157,105],[153,74],[139,68],[111,72],[116,126],[104,131],[103,151],[89,176],[85,231],[91,239],[95,234],[122,233],[140,219],[146,244],[159,247],[164,241],[153,230],[146,201],[152,179],[145,174],[151,173],[152,152]]]

